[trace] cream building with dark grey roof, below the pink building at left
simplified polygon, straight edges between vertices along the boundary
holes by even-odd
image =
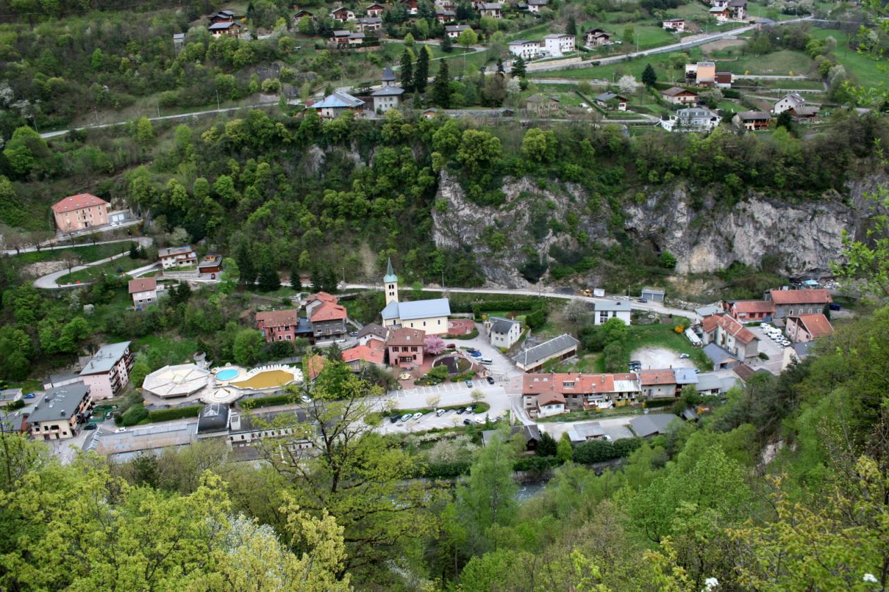
[[[28,415],[31,436],[43,440],[73,438],[94,406],[90,387],[83,383],[51,388]]]

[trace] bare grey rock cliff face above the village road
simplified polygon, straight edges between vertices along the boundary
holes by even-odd
[[[648,194],[645,203],[625,207],[624,230],[635,241],[649,242],[657,252],[673,253],[680,274],[713,272],[733,261],[757,266],[769,256],[777,258],[790,276],[827,276],[830,262],[837,260],[842,248],[844,231],[863,234],[868,217],[864,195],[881,181],[885,179],[857,180],[848,185],[845,198],[825,195],[799,204],[750,192],[732,209],[717,207],[713,195],[703,196],[702,206],[694,209],[689,192],[677,185]],[[610,212],[603,206],[602,212],[590,215],[585,208],[588,196],[581,188],[568,184],[541,189],[531,180],[519,179],[508,180],[502,189],[505,204],[480,207],[464,196],[453,176],[442,172],[437,197],[447,207],[433,213],[436,245],[472,248],[489,284],[529,286],[517,268],[529,257],[546,258],[552,244],[576,248],[578,233],[598,244],[613,243],[606,228]],[[571,230],[565,228],[569,212],[576,214]],[[543,230],[541,216],[550,220]],[[507,236],[505,247],[491,248],[485,240],[488,227]],[[588,279],[595,281],[595,275]],[[547,283],[557,284],[549,278]]]

